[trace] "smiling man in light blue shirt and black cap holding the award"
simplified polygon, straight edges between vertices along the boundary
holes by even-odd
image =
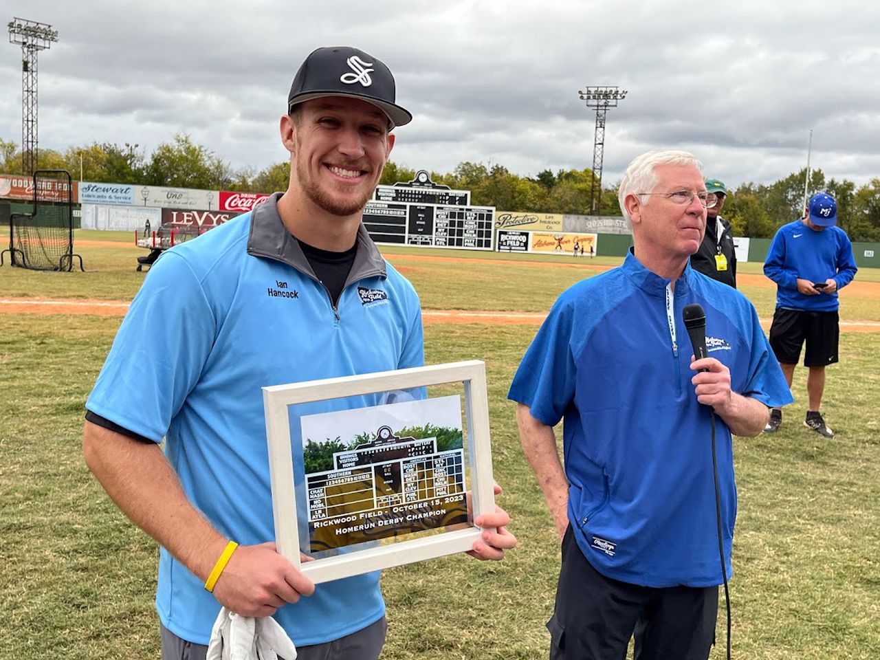
[[[162,255],[86,402],[86,463],[161,546],[165,660],[204,658],[221,605],[274,615],[300,660],[370,660],[385,641],[378,573],[316,588],[275,551],[260,387],[424,362],[418,297],[361,221],[412,116],[385,64],[348,47],[306,58],[287,111],[288,190]],[[516,544],[502,510],[475,522],[475,556]]]

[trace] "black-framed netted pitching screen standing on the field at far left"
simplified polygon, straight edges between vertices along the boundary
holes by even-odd
[[[10,216],[11,265],[32,270],[73,269],[73,185],[66,170],[33,172],[33,208]],[[2,264],[0,255],[0,264]]]

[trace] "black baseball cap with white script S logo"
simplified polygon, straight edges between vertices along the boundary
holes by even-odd
[[[368,101],[388,115],[392,128],[413,119],[412,114],[394,103],[394,77],[385,63],[350,46],[318,48],[305,58],[290,85],[288,113],[297,103],[324,96]]]

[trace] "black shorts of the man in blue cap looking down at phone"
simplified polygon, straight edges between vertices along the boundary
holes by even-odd
[[[770,346],[782,364],[797,364],[801,347],[805,367],[824,367],[837,362],[840,317],[835,312],[804,312],[777,307],[770,326]]]

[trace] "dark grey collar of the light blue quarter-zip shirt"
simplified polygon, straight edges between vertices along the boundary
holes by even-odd
[[[314,271],[309,260],[305,258],[303,248],[299,246],[297,238],[287,231],[278,213],[278,200],[281,195],[281,193],[270,195],[251,211],[247,253],[254,257],[281,261],[305,275],[314,277]],[[373,243],[363,223],[357,228],[356,243],[355,263],[352,264],[351,272],[348,274],[348,282],[376,275],[386,277],[385,259],[379,253],[378,247]]]

